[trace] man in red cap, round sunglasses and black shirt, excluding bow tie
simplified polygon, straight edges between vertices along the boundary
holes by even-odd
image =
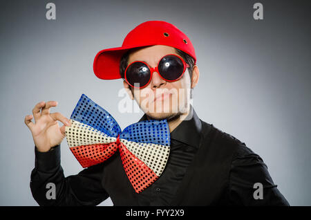
[[[59,147],[70,121],[50,113],[57,102],[40,102],[32,111],[36,123],[32,116],[25,118],[35,141],[30,188],[39,205],[97,205],[109,196],[114,205],[289,205],[260,156],[196,115],[190,104],[199,79],[196,54],[176,26],[140,24],[122,47],[97,53],[93,68],[100,79],[124,79],[124,88],[145,113],[141,120],[167,119],[167,165],[140,193],[133,190],[118,153],[65,178]],[[57,120],[64,126],[59,128]],[[46,198],[47,183],[55,184],[55,199]]]

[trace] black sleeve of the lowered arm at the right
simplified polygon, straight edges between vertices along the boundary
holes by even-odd
[[[232,205],[290,205],[272,181],[263,159],[245,145],[238,146],[232,160],[229,201]]]

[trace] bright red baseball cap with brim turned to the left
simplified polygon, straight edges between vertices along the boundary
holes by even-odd
[[[153,45],[178,48],[193,57],[196,64],[194,46],[185,33],[166,21],[145,21],[126,35],[121,47],[98,52],[94,59],[93,71],[102,80],[120,79],[122,55],[131,48]]]

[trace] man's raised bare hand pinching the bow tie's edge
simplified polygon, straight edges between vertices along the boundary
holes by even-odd
[[[70,120],[61,113],[50,113],[50,107],[56,107],[57,104],[56,101],[39,102],[32,109],[33,116],[25,117],[25,124],[30,129],[39,152],[48,152],[51,147],[59,145],[65,137],[65,126],[71,126]],[[35,117],[35,124],[32,117]],[[61,128],[57,120],[64,124]]]

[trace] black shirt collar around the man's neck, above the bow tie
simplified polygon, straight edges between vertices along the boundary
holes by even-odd
[[[144,114],[139,121],[142,120],[147,120],[146,114]],[[201,129],[202,124],[200,118],[198,118],[196,111],[194,111],[194,108],[191,106],[187,120],[183,120],[178,127],[171,132],[171,139],[199,148]]]

